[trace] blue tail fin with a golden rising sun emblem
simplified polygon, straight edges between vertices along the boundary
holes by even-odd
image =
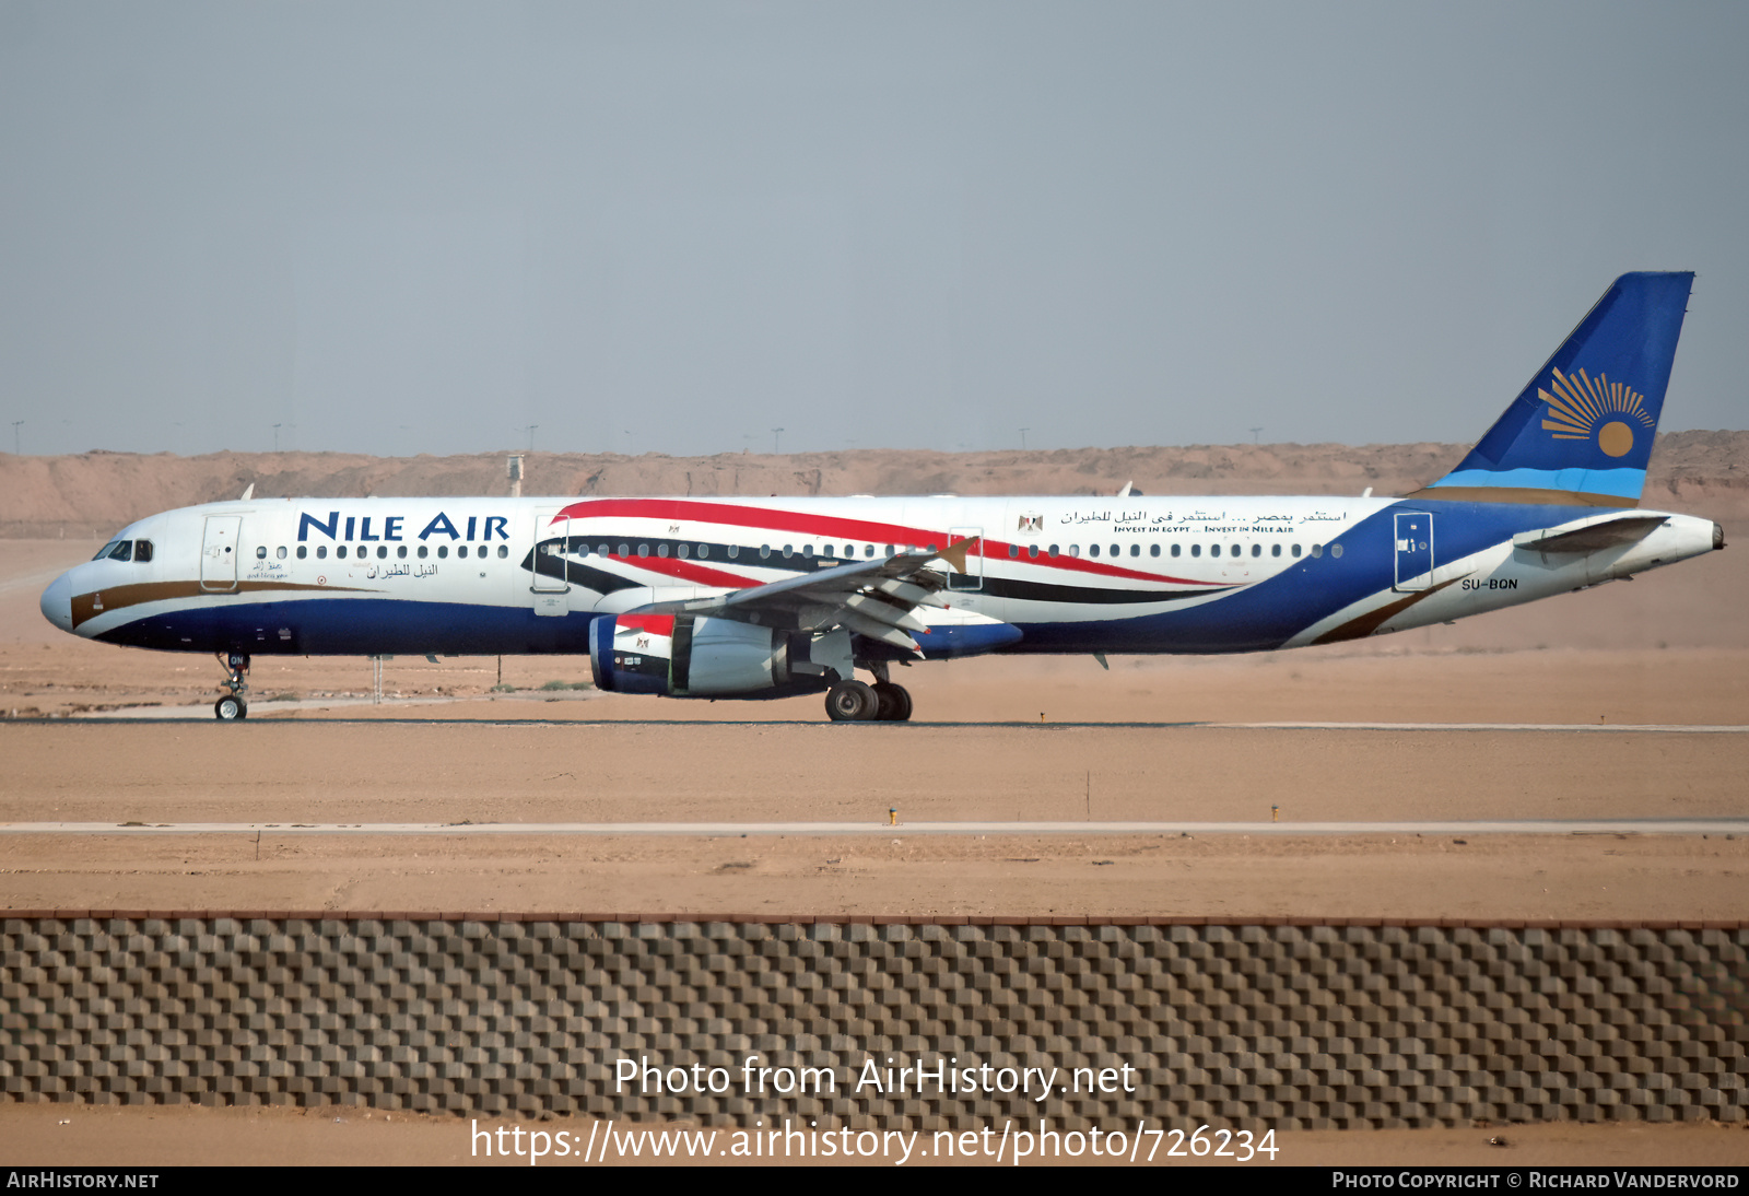
[[[1418,497],[1637,507],[1693,282],[1621,275],[1469,456]]]

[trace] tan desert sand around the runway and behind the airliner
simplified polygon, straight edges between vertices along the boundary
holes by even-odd
[[[784,493],[1109,493],[1128,477],[1153,493],[1354,493],[1413,488],[1460,451],[1289,448],[535,458],[526,490],[770,493],[787,470]],[[1452,628],[1300,652],[1112,657],[1109,671],[1090,657],[918,666],[902,675],[918,710],[908,726],[829,726],[817,698],[598,694],[572,687],[589,677],[575,657],[392,659],[381,705],[369,661],[262,657],[250,719],[219,726],[210,703],[220,671],[208,657],[87,643],[37,612],[42,586],[89,556],[93,539],[248,481],[257,493],[387,495],[491,491],[502,477],[498,456],[0,456],[0,523],[37,537],[0,540],[0,820],[878,825],[897,808],[901,825],[836,839],[0,836],[5,907],[1749,916],[1742,836],[922,838],[902,825],[1740,818],[1740,733],[1214,724],[1749,726],[1749,551]],[[1746,434],[1665,437],[1648,505],[1662,495],[1739,540],[1749,532],[1746,460]],[[138,708],[185,719],[117,717]],[[1511,1145],[1487,1144],[1501,1135]],[[3,1105],[0,1144],[5,1161],[28,1163],[467,1161],[456,1123],[385,1124],[362,1112],[334,1123]],[[1287,1145],[1282,1163],[1749,1161],[1749,1133],[1707,1126],[1296,1133]]]

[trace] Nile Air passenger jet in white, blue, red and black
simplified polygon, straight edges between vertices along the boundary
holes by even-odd
[[[133,523],[49,586],[91,640],[255,654],[589,656],[603,691],[824,692],[894,664],[1259,652],[1446,622],[1725,546],[1641,511],[1691,273],[1623,275],[1455,470],[1403,498],[257,498]],[[857,673],[874,678],[869,685]]]

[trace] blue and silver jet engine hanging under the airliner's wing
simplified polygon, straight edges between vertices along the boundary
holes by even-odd
[[[791,675],[792,659],[806,663],[806,636],[735,619],[624,614],[589,626],[595,684],[621,694],[782,698],[820,689],[819,677]]]

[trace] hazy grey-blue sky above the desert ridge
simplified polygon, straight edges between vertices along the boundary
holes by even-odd
[[[1746,3],[0,0],[0,448],[1471,441],[1697,269]]]

